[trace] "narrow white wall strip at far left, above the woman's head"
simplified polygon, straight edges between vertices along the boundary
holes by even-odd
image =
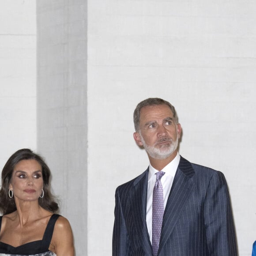
[[[36,149],[34,0],[0,1],[0,169],[16,150]]]

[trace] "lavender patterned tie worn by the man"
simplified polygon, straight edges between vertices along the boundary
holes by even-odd
[[[161,178],[165,173],[159,171],[156,173],[156,182],[153,190],[152,203],[152,247],[153,255],[157,256],[159,241],[162,229],[162,221],[164,215],[164,195]]]

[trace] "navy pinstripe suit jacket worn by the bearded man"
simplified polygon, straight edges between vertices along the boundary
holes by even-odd
[[[153,256],[147,232],[148,169],[116,190],[113,256]],[[224,175],[181,157],[167,200],[158,256],[237,256]]]

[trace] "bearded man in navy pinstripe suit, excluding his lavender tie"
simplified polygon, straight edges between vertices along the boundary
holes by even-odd
[[[178,153],[181,125],[173,105],[146,99],[134,111],[134,124],[134,139],[150,164],[116,190],[113,256],[237,256],[225,177]],[[164,172],[164,214],[153,254],[152,198],[159,171]]]

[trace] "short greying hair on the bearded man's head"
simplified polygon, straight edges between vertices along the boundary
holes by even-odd
[[[146,100],[143,100],[142,102],[139,102],[139,104],[136,106],[136,109],[134,110],[133,113],[133,122],[134,122],[134,128],[136,132],[139,132],[139,120],[140,120],[140,111],[143,107],[147,106],[156,106],[156,105],[167,105],[173,112],[173,119],[177,123],[178,122],[178,117],[176,110],[174,106],[170,103],[167,102],[161,98],[147,98]]]

